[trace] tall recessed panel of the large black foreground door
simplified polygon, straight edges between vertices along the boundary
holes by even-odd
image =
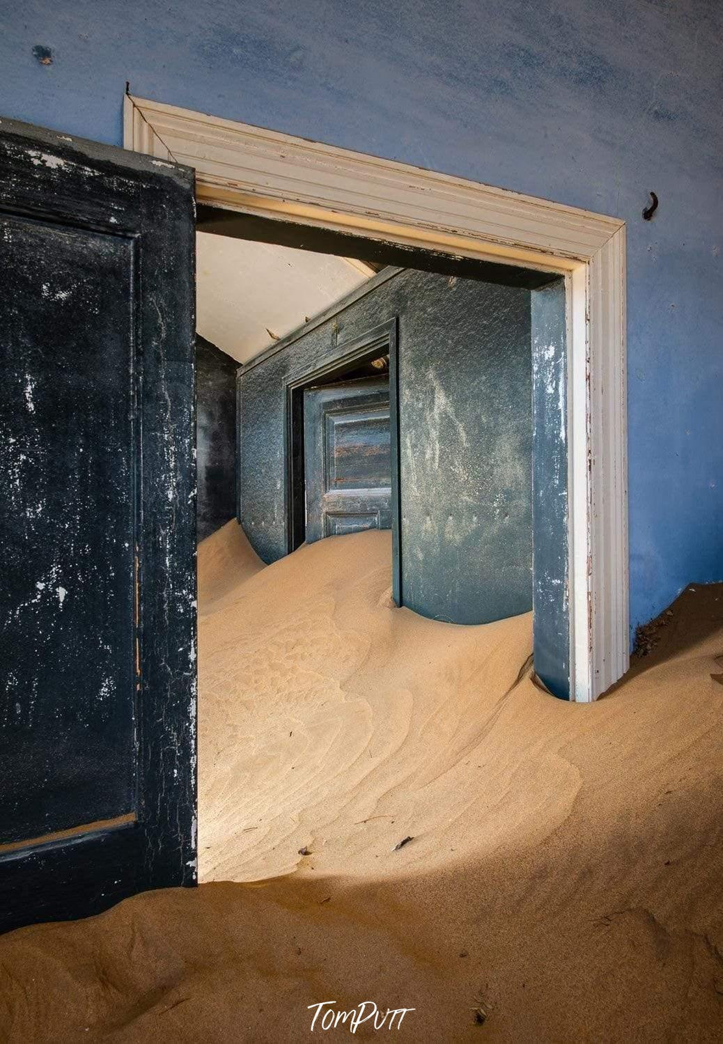
[[[136,672],[133,241],[0,215],[0,242],[1,844],[133,810]]]

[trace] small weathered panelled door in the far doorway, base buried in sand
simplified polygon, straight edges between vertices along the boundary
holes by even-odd
[[[306,542],[392,527],[389,379],[304,392]]]

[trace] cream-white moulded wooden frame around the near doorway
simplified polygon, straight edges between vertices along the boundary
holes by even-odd
[[[200,203],[559,272],[566,284],[570,696],[628,669],[625,222],[125,96],[124,145],[194,167]]]

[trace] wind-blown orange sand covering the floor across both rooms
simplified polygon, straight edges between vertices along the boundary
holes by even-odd
[[[723,1038],[723,586],[585,707],[530,616],[397,610],[390,559],[204,542],[208,883],[0,939],[0,1039],[307,1040],[332,999],[417,1041]]]

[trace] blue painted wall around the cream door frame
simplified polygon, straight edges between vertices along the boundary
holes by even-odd
[[[120,144],[130,80],[148,98],[624,218],[631,623],[690,580],[723,579],[720,0],[4,6],[7,116]]]

